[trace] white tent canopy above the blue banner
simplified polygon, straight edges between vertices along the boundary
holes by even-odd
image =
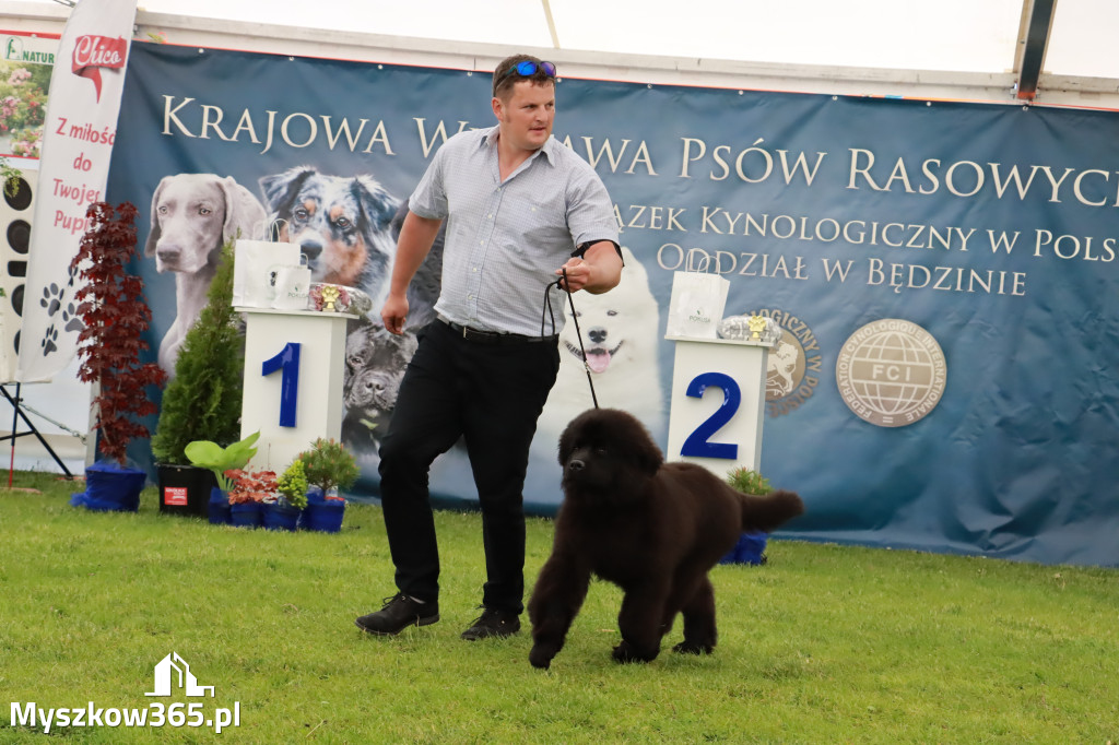
[[[0,10],[65,18],[64,2]],[[485,69],[529,48],[575,76],[1088,106],[1119,106],[1117,21],[1111,0],[145,0],[138,15],[171,43],[286,54]]]

